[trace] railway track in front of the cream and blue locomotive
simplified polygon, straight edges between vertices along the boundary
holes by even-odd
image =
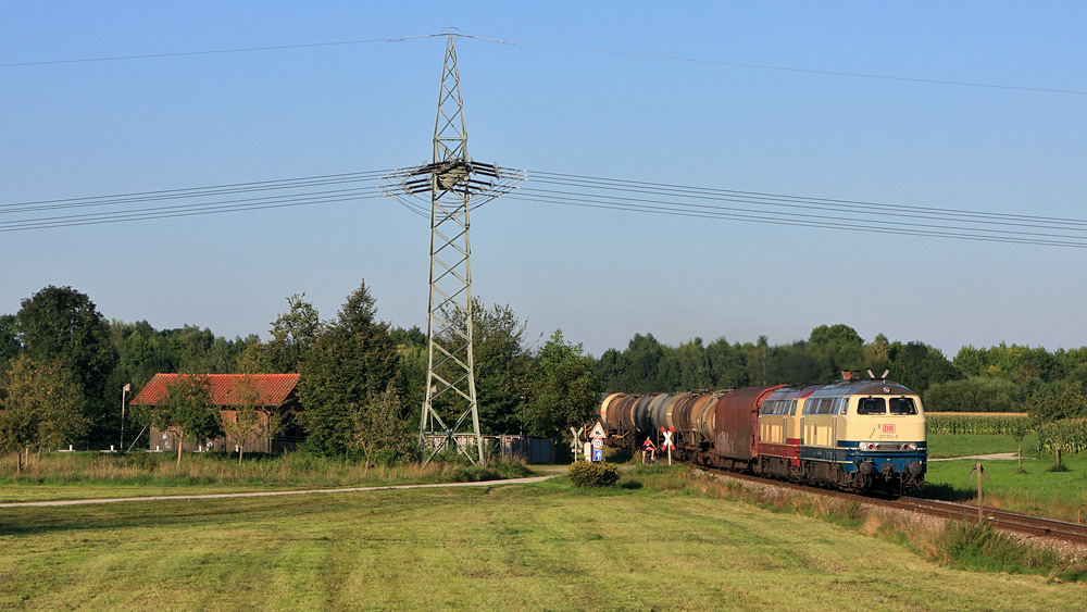
[[[955,521],[977,522],[977,507],[953,503],[950,501],[939,501],[934,499],[921,499],[915,497],[901,497],[898,499],[884,499],[877,497],[861,497],[845,491],[822,489],[794,483],[771,480],[749,474],[737,474],[722,470],[705,470],[705,472],[719,476],[726,476],[738,480],[757,483],[762,486],[773,486],[784,489],[802,491],[810,495],[820,495],[836,499],[858,501],[865,505],[886,508],[889,510],[914,512],[926,514],[938,519],[952,519]],[[1066,521],[1055,521],[1053,519],[1042,519],[1029,516],[1015,512],[998,510],[996,508],[982,508],[982,515],[989,524],[997,529],[1010,532],[1019,535],[1054,538],[1077,547],[1087,547],[1087,525],[1069,523]]]

